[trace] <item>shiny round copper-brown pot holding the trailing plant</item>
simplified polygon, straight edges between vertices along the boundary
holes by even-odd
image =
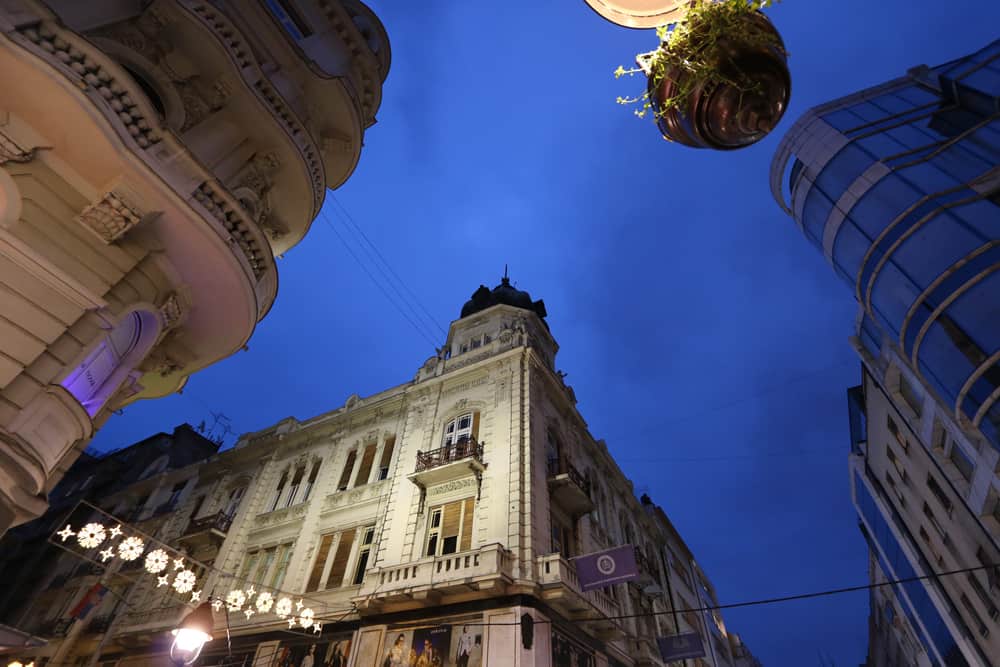
[[[697,82],[686,100],[661,112],[664,100],[676,95],[672,79],[691,76],[668,68],[659,85],[649,78],[656,124],[665,139],[693,148],[735,150],[756,143],[775,128],[788,108],[791,77],[781,35],[761,12],[748,14],[747,30],[773,35],[775,46],[747,44],[738,35],[719,40],[713,59],[734,81],[749,80],[752,90],[728,83]]]

